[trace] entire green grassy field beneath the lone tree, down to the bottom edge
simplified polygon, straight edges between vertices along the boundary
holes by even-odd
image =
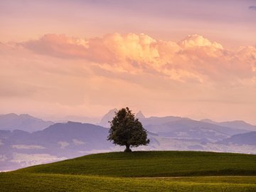
[[[0,191],[256,191],[256,156],[196,151],[92,154],[0,174]]]

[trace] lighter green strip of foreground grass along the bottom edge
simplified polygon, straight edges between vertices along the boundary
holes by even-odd
[[[256,190],[256,177],[113,178],[65,174],[0,174],[1,192],[9,191],[183,191]]]

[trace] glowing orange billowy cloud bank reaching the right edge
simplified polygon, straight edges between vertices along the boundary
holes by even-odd
[[[22,44],[43,55],[87,60],[111,73],[154,73],[181,82],[234,81],[255,76],[255,47],[229,51],[197,34],[177,43],[144,33],[113,33],[90,39],[46,34]]]

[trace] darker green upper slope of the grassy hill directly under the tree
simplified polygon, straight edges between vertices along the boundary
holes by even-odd
[[[256,156],[199,151],[91,154],[15,172],[117,177],[256,176]]]

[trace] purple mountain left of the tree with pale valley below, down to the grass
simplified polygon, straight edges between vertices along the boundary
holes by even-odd
[[[108,129],[78,122],[57,123],[38,132],[0,130],[0,171],[111,151]]]

